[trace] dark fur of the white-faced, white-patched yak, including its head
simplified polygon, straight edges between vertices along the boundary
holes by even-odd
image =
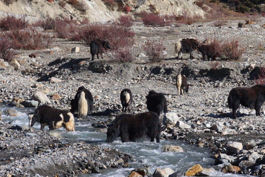
[[[34,111],[34,114],[37,114],[37,116],[36,118],[32,119],[31,126],[33,126],[36,122],[39,122],[40,124],[47,123],[49,129],[53,130],[53,125],[56,125],[57,122],[62,120],[60,114],[63,114],[64,122],[69,122],[70,116],[67,113],[69,112],[65,110],[56,109],[48,105],[38,106],[37,109]],[[62,124],[65,128],[65,124]]]

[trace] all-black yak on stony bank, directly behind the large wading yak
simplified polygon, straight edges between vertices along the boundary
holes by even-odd
[[[146,104],[148,111],[153,111],[158,116],[160,116],[162,111],[164,111],[165,114],[167,113],[167,104],[166,104],[167,101],[164,95],[159,94],[154,90],[151,90],[147,94],[146,98],[147,98]]]

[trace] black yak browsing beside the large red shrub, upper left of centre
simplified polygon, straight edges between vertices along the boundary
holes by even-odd
[[[99,59],[99,53],[101,55],[101,58],[103,59],[103,48],[110,49],[111,44],[108,41],[101,41],[100,39],[96,39],[90,42],[90,53],[92,55],[92,61],[95,58],[95,54],[97,54],[97,57]]]

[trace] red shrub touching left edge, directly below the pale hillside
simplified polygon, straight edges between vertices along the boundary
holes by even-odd
[[[20,30],[28,27],[28,21],[25,16],[17,18],[16,16],[7,15],[0,20],[0,29],[3,31]]]

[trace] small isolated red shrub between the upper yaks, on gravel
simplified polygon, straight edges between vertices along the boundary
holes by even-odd
[[[143,47],[145,55],[147,56],[149,62],[160,62],[165,59],[166,54],[164,53],[164,45],[161,42],[147,41]]]

